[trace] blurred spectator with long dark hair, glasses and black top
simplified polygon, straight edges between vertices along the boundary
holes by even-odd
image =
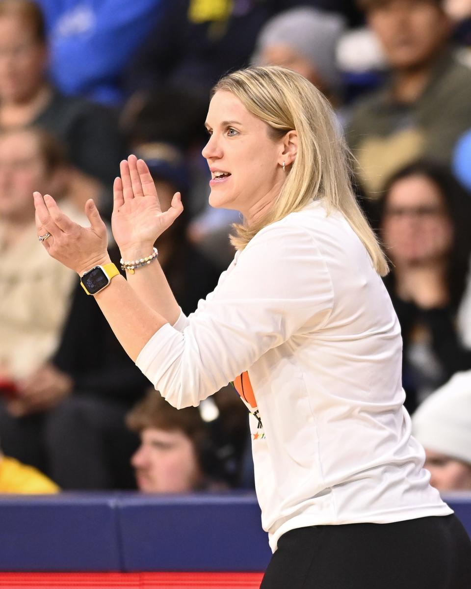
[[[457,370],[471,369],[471,199],[438,164],[414,163],[388,182],[380,227],[393,267],[385,283],[403,337],[403,385],[413,411]]]

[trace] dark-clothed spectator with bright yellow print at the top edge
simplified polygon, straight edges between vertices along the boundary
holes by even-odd
[[[156,90],[167,85],[207,97],[228,70],[247,65],[258,31],[276,2],[173,0],[130,66],[127,87]]]

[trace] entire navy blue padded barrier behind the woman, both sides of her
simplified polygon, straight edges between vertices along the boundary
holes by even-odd
[[[471,494],[450,494],[471,536]],[[263,571],[254,494],[0,495],[0,571]]]

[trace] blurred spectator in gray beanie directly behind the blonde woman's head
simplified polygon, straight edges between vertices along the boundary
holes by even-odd
[[[336,48],[344,19],[309,6],[293,8],[271,18],[261,29],[252,61],[281,65],[303,75],[334,105],[342,94]]]

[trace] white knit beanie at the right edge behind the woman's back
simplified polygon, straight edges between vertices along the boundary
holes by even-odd
[[[412,433],[425,448],[471,464],[471,370],[455,374],[419,406]]]

